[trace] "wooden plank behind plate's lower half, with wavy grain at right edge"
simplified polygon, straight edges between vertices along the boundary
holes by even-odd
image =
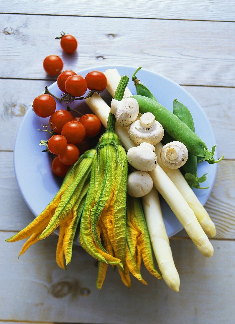
[[[34,218],[18,190],[12,155],[12,152],[0,152],[0,230],[4,231],[18,231]],[[234,178],[235,161],[220,162],[215,186],[206,203],[218,238],[235,238]]]

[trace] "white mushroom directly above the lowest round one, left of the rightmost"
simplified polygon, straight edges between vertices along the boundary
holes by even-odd
[[[152,171],[157,167],[157,156],[154,153],[155,146],[149,143],[141,143],[132,147],[126,153],[127,161],[136,170]]]

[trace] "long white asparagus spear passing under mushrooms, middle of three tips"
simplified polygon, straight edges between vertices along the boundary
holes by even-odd
[[[92,97],[86,99],[86,103],[106,127],[110,111],[109,106],[97,93],[94,93]],[[120,137],[126,151],[128,151],[131,147],[136,146],[128,136],[127,127],[121,127],[116,124],[115,132]],[[182,194],[179,192],[170,178],[159,165],[157,165],[153,171],[149,172],[149,174],[153,179],[155,188],[168,203],[171,210],[181,222],[182,226],[188,233],[188,236],[191,237],[198,250],[204,256],[212,257],[214,249],[208,240],[208,237],[198,223],[193,210],[189,207]]]

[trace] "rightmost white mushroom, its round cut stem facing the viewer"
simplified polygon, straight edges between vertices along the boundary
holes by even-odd
[[[187,147],[178,141],[170,142],[161,149],[161,161],[170,169],[182,167],[188,159]]]

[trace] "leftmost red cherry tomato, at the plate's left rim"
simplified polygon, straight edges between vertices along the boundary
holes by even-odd
[[[47,94],[42,94],[33,100],[33,111],[39,117],[49,117],[56,108],[55,99]]]

